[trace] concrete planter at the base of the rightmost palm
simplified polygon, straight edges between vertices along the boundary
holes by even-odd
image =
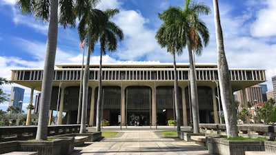
[[[244,155],[246,151],[264,151],[264,141],[228,141],[225,138],[207,138],[210,154]]]

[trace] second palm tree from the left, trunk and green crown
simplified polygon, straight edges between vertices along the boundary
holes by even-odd
[[[90,66],[90,54],[94,52],[95,43],[99,39],[100,28],[106,15],[95,8],[97,0],[85,0],[77,1],[77,7],[75,12],[79,17],[79,38],[81,41],[85,41],[87,45],[87,57],[86,66],[83,72],[83,96],[82,96],[82,108],[81,108],[81,128],[80,133],[86,132],[86,114],[88,105],[88,80],[89,80],[89,66]]]

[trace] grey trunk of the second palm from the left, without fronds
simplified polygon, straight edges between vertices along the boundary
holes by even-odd
[[[89,69],[90,69],[90,46],[91,39],[90,33],[88,34],[88,47],[87,47],[87,58],[86,67],[83,73],[83,94],[82,94],[82,108],[81,108],[81,128],[79,133],[86,133],[86,116],[87,116],[87,104],[88,104],[88,82],[89,82]]]

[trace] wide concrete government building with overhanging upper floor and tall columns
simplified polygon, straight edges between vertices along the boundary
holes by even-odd
[[[60,111],[58,124],[75,124],[79,121],[79,90],[81,83],[81,64],[56,65],[50,112]],[[218,123],[218,111],[222,106],[218,101],[218,74],[215,63],[196,63],[197,91],[199,99],[199,122]],[[265,70],[230,69],[230,83],[233,92],[245,91],[246,87],[266,81]],[[87,124],[96,123],[97,90],[99,85],[99,64],[90,64]],[[10,81],[30,87],[32,103],[34,90],[41,91],[43,69],[12,70]],[[158,61],[123,61],[103,63],[103,114],[110,125],[166,125],[175,119],[173,99],[173,65]],[[190,81],[189,64],[177,63],[179,107],[181,125],[190,125]],[[245,94],[245,93],[244,93]],[[246,103],[246,102],[245,102]],[[220,107],[220,108],[219,108]],[[61,112],[66,115],[62,118]],[[52,113],[50,113],[50,118]]]

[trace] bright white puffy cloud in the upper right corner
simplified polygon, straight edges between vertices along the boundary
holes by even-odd
[[[276,35],[276,1],[266,0],[266,7],[257,12],[257,19],[250,27],[253,37]]]

